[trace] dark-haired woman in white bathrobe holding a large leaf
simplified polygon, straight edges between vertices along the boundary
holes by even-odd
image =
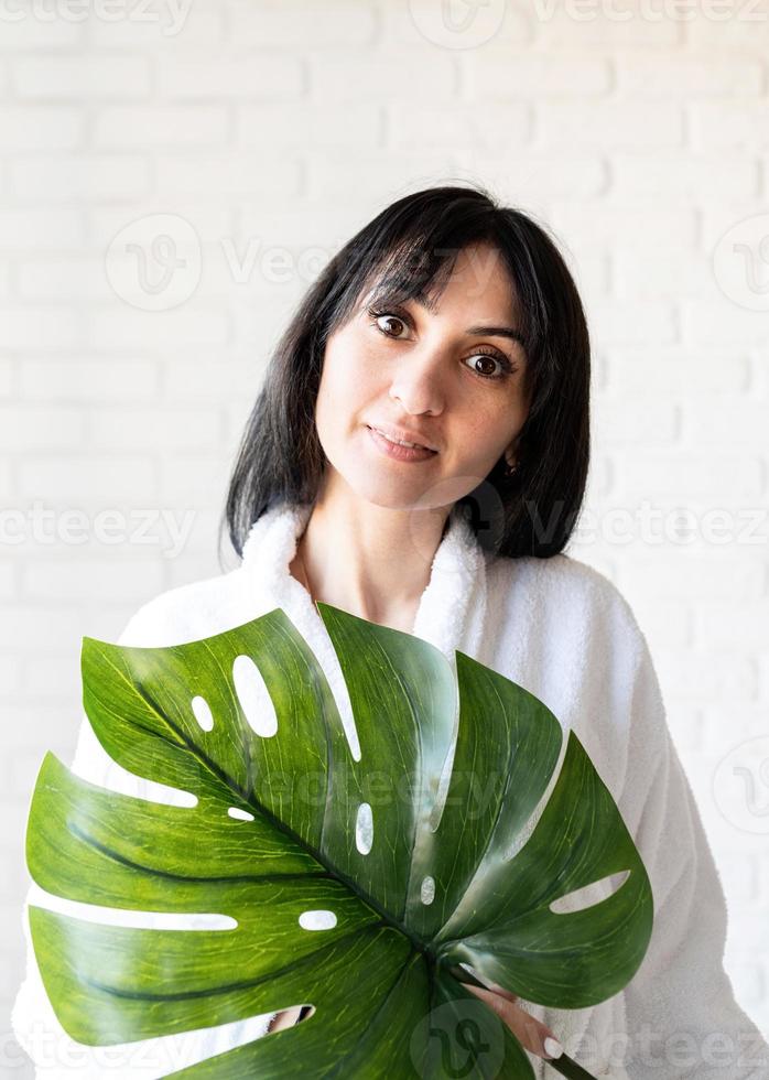
[[[120,641],[194,640],[280,606],[323,663],[350,739],[316,601],[413,633],[452,662],[461,649],[526,687],[580,736],[615,798],[649,871],[654,931],[626,991],[593,1008],[474,992],[539,1077],[552,1074],[543,1062],[560,1040],[616,1080],[748,1080],[767,1048],[722,966],[724,895],[646,640],[617,590],[563,554],[587,477],[588,400],[584,312],[546,233],[472,187],[399,199],[329,262],[272,357],[227,498],[241,565],[156,597]],[[148,790],[110,763],[85,719],[73,768]],[[40,1017],[61,1040],[30,955],[14,1026],[33,1057]],[[185,1061],[300,1019],[284,1007],[202,1033]],[[689,1057],[671,1049],[681,1035]],[[155,1058],[151,1074],[171,1071],[165,1062]],[[128,1062],[120,1074],[147,1073]]]

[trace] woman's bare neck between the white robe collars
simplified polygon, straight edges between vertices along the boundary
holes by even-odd
[[[361,499],[338,474],[333,477],[326,474],[291,573],[313,601],[410,631],[451,506],[391,509]]]

